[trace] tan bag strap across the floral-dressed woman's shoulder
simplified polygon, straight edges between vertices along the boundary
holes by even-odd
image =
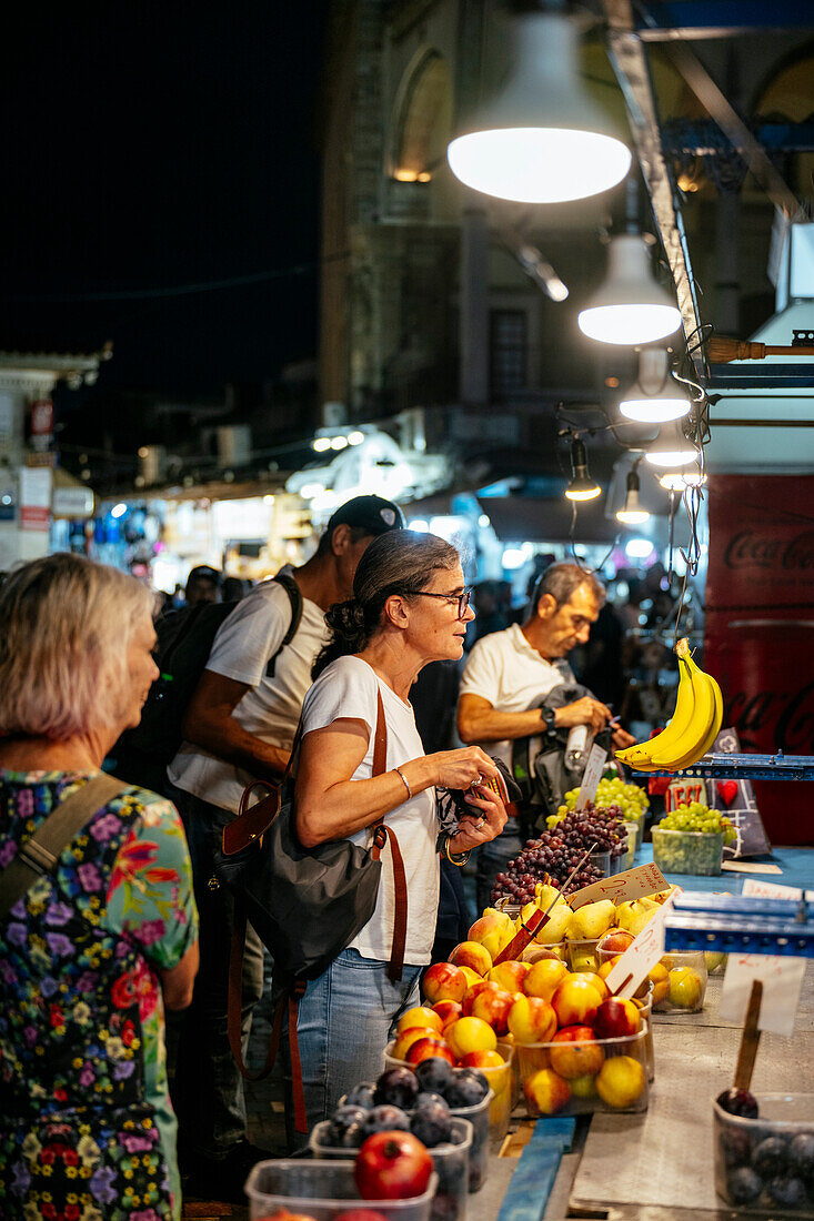
[[[60,856],[90,817],[128,788],[123,780],[103,773],[59,803],[39,830],[21,844],[15,858],[0,873],[0,919],[38,878],[54,872]]]

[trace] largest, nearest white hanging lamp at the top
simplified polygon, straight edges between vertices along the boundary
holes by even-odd
[[[562,13],[527,12],[511,24],[515,67],[501,93],[447,149],[467,187],[497,199],[555,204],[621,182],[631,150],[578,76],[578,31]]]

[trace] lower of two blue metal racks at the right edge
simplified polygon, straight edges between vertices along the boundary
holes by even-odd
[[[665,949],[814,958],[814,916],[801,900],[687,890],[665,922]]]

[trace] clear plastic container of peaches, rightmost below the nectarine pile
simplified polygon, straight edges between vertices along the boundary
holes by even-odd
[[[590,1044],[518,1045],[516,1050],[528,1114],[537,1118],[540,1115],[585,1115],[593,1111],[647,1111],[647,1043],[648,1028],[644,1023],[636,1034],[618,1039],[594,1039]],[[588,1049],[592,1051],[590,1063],[585,1063],[585,1056],[582,1055]],[[568,1065],[568,1051],[579,1055],[579,1062]],[[623,1060],[625,1063],[610,1068],[615,1060]],[[557,1072],[557,1067],[561,1072]],[[578,1068],[587,1071],[577,1072]],[[546,1074],[535,1082],[541,1070],[546,1070]]]

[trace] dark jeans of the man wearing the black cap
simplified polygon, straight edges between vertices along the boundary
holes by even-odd
[[[235,905],[225,886],[210,886],[214,850],[235,817],[192,794],[175,789],[171,797],[187,830],[196,902],[200,918],[200,967],[192,1005],[177,1037],[172,1101],[178,1116],[178,1151],[185,1161],[222,1159],[246,1137],[243,1078],[229,1046],[229,955]],[[243,1055],[252,1013],[263,994],[263,945],[246,930],[243,951]]]

